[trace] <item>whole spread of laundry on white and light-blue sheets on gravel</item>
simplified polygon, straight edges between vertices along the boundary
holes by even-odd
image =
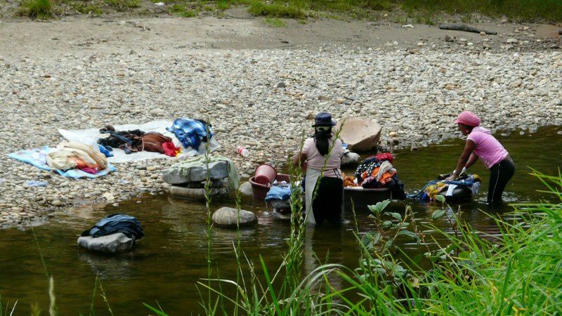
[[[97,178],[115,171],[112,163],[197,156],[220,147],[210,126],[197,119],[108,124],[102,129],[59,129],[59,133],[67,141],[56,147],[19,150],[8,157],[69,178]]]

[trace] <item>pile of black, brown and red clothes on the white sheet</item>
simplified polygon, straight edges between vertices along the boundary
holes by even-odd
[[[126,154],[133,152],[159,152],[166,156],[176,157],[180,152],[180,148],[176,147],[171,138],[161,133],[149,132],[145,133],[138,129],[132,131],[115,131],[111,125],[100,129],[100,139],[98,144],[102,145],[106,150],[111,148],[119,148],[124,150]]]

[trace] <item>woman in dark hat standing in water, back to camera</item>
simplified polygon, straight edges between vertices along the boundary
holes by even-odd
[[[331,114],[318,113],[313,125],[314,137],[305,140],[295,159],[301,167],[306,162],[305,205],[307,222],[311,224],[321,225],[324,220],[341,224],[344,180],[340,165],[344,147],[341,140],[332,139],[332,126],[335,125]],[[314,193],[317,182],[318,189]]]

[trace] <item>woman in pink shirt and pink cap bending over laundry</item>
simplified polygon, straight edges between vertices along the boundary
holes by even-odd
[[[504,189],[515,173],[513,160],[504,146],[492,136],[490,130],[480,127],[480,118],[476,114],[464,111],[455,120],[459,130],[466,138],[466,145],[462,152],[457,169],[450,178],[456,178],[462,171],[472,166],[478,158],[484,166],[490,169],[490,184],[488,187],[488,204],[502,202]]]

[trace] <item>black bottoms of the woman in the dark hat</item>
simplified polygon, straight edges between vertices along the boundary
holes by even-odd
[[[332,177],[322,177],[319,181],[316,198],[312,202],[316,225],[321,225],[324,220],[339,225],[341,224],[341,201],[344,199],[344,181]]]

